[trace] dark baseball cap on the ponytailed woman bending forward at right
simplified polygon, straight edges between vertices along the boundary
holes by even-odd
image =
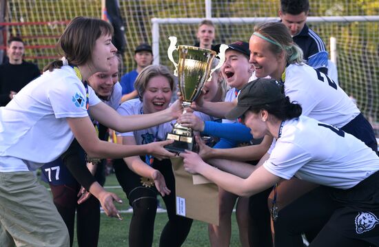
[[[285,98],[283,85],[274,79],[258,78],[247,83],[237,96],[237,106],[225,117],[236,119],[243,116],[250,107],[274,103]]]

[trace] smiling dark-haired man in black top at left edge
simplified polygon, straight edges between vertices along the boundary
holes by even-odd
[[[25,44],[19,37],[8,41],[9,61],[0,65],[0,106],[7,105],[26,84],[41,73],[37,65],[23,60]]]

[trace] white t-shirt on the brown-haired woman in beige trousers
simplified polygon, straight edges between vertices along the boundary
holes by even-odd
[[[74,69],[44,72],[0,107],[0,171],[29,171],[55,160],[74,139],[65,118],[88,116],[85,87]],[[89,104],[101,100],[88,87]]]

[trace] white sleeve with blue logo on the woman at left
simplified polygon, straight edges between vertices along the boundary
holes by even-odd
[[[81,118],[88,116],[85,89],[76,78],[65,77],[54,83],[48,98],[56,118]]]

